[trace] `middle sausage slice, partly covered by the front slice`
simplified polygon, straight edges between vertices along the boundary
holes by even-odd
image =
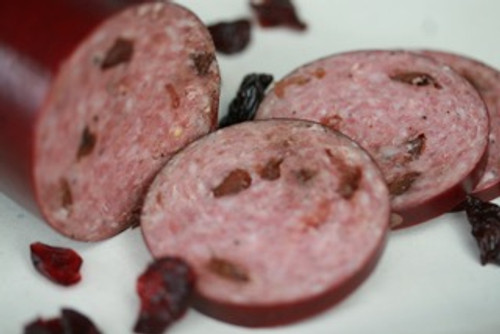
[[[320,122],[356,140],[382,169],[394,227],[448,212],[486,162],[488,114],[463,77],[404,51],[358,51],[305,65],[276,83],[258,119]]]

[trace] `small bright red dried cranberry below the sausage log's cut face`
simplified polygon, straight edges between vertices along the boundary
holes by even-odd
[[[31,244],[30,249],[33,265],[51,281],[65,286],[80,281],[80,267],[83,260],[74,250],[53,247],[41,242]]]

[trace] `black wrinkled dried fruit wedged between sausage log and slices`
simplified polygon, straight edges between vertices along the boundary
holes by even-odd
[[[252,120],[257,108],[265,96],[267,87],[273,81],[270,74],[248,74],[231,101],[227,115],[221,119],[219,127],[223,128],[236,123]]]

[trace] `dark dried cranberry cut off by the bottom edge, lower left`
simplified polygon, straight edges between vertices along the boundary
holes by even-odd
[[[24,334],[100,334],[101,332],[85,315],[64,308],[60,318],[37,319],[24,328]]]

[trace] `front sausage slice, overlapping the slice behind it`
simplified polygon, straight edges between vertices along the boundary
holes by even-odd
[[[324,310],[368,276],[390,200],[371,157],[297,120],[227,127],[175,155],[155,178],[141,226],[155,257],[183,257],[194,305],[243,326]]]

